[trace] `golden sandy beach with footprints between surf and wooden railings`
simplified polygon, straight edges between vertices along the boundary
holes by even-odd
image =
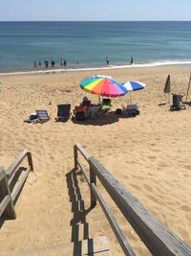
[[[15,204],[16,220],[1,224],[0,255],[99,236],[107,237],[112,255],[123,255],[98,204],[76,221],[74,210],[89,208],[90,192],[81,178],[79,190],[74,188],[75,143],[191,246],[191,105],[169,111],[172,96],[163,93],[170,74],[171,92],[185,95],[190,70],[190,65],[174,65],[0,77],[0,166],[7,169],[24,149],[32,151],[34,166]],[[130,100],[126,94],[112,100],[107,116],[79,124],[54,122],[58,104],[71,104],[74,109],[84,96],[97,103],[96,95],[86,94],[79,86],[79,81],[96,73],[121,82],[146,83],[144,90],[131,93],[140,114],[136,118],[116,115],[116,109]],[[191,91],[187,103],[191,103]],[[51,120],[24,123],[35,109],[47,109]],[[151,255],[99,182],[97,186],[136,253]],[[77,200],[84,208],[78,208]]]

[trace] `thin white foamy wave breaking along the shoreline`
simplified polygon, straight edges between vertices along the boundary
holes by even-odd
[[[120,65],[109,65],[109,66],[95,66],[95,67],[74,67],[74,68],[54,68],[46,70],[22,70],[22,71],[9,71],[1,72],[0,76],[11,76],[11,75],[32,75],[32,74],[54,74],[54,73],[66,73],[66,72],[80,72],[80,71],[96,71],[96,70],[111,70],[111,69],[124,69],[124,68],[141,68],[141,67],[157,67],[165,65],[190,65],[191,60],[165,60],[165,61],[154,61],[144,63],[120,64]]]

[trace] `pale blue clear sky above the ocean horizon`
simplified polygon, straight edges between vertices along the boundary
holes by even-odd
[[[191,0],[0,0],[0,21],[191,20]]]

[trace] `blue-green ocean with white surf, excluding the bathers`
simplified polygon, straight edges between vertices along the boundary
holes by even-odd
[[[0,73],[191,63],[191,21],[0,22]],[[37,67],[34,67],[34,61]],[[42,65],[38,66],[39,61]],[[52,67],[49,67],[52,69]]]

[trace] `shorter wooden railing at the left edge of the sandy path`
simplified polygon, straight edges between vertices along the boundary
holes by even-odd
[[[11,178],[18,171],[21,162],[28,158],[28,167],[24,175],[15,182],[14,187],[11,189]],[[28,150],[21,152],[14,162],[11,164],[7,172],[0,168],[0,217],[5,219],[15,219],[16,214],[14,210],[14,201],[20,193],[29,173],[33,171],[32,153]]]

